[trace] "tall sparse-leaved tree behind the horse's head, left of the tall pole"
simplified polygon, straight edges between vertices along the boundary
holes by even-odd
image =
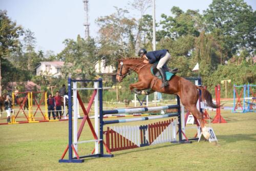
[[[106,65],[116,65],[117,59],[134,54],[134,50],[129,48],[131,44],[134,45],[131,41],[134,41],[133,29],[136,26],[136,20],[125,16],[129,13],[127,10],[115,8],[115,13],[99,17],[96,21],[100,27],[98,54],[105,60]]]

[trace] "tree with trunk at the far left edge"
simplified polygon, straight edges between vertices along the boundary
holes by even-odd
[[[2,95],[2,60],[19,46],[19,36],[23,34],[21,26],[7,16],[7,11],[0,10],[0,96]],[[5,69],[5,68],[4,68]]]

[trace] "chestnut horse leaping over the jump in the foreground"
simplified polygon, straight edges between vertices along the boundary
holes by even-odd
[[[205,126],[203,115],[197,109],[197,101],[199,98],[198,89],[202,91],[202,100],[205,100],[211,108],[219,108],[218,105],[212,102],[211,94],[201,86],[196,86],[187,79],[174,75],[168,81],[169,86],[161,88],[162,80],[151,73],[150,63],[143,63],[142,58],[122,58],[118,62],[118,70],[116,80],[122,82],[123,78],[127,76],[130,71],[138,74],[138,82],[130,84],[131,91],[140,94],[150,94],[155,91],[165,94],[174,94],[180,97],[181,103],[188,109],[200,122],[202,134],[205,139],[209,139],[210,134]],[[151,91],[145,91],[151,89]]]

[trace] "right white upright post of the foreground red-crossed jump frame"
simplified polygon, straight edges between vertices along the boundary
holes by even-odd
[[[94,82],[94,88],[97,90],[97,93],[94,97],[94,130],[97,135],[97,141],[95,141],[95,154],[99,154],[99,82]]]

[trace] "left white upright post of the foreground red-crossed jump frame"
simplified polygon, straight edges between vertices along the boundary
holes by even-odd
[[[77,149],[77,90],[76,89],[77,89],[76,82],[73,82],[73,105],[74,105],[73,144],[74,144],[76,152],[78,153],[78,149]],[[73,153],[73,156],[75,157],[74,153]]]

